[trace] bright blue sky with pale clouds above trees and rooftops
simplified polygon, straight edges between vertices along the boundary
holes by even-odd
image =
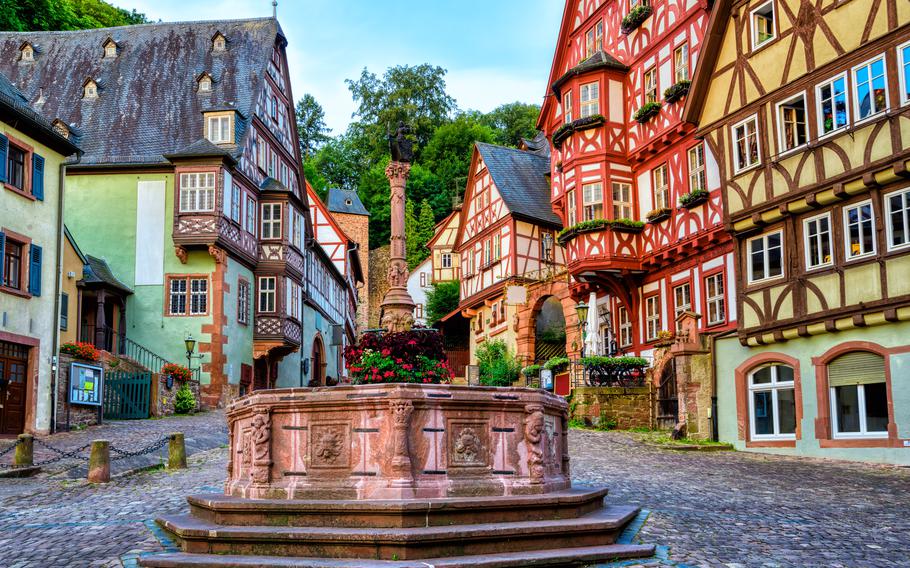
[[[271,0],[114,0],[151,20],[209,20],[271,14]],[[354,103],[344,80],[363,67],[431,63],[448,70],[459,108],[489,111],[540,103],[561,0],[279,0],[294,96],[312,93],[336,133]]]

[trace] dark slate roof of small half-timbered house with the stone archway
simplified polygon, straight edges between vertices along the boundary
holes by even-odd
[[[477,151],[513,215],[562,227],[550,205],[549,157],[483,142]]]

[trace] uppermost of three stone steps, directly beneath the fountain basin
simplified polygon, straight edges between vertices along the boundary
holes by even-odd
[[[572,519],[603,506],[605,487],[543,495],[386,501],[188,497],[191,514],[217,525],[285,527],[428,527]]]

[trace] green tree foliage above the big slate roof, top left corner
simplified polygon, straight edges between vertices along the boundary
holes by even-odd
[[[147,21],[145,14],[102,0],[0,0],[0,29],[6,31],[85,30]]]

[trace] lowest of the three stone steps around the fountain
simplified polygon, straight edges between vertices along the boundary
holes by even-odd
[[[394,560],[330,560],[275,556],[226,556],[220,554],[159,554],[144,556],[139,565],[148,568],[533,568],[583,566],[654,555],[653,545],[610,544],[526,552],[503,552],[482,556],[434,558],[430,563]]]

